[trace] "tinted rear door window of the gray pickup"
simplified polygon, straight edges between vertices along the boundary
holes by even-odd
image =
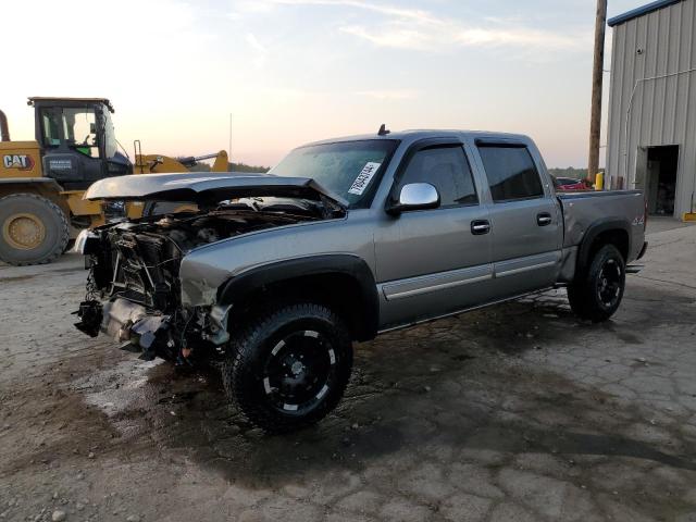
[[[526,147],[485,145],[478,147],[495,202],[544,196],[534,160]]]

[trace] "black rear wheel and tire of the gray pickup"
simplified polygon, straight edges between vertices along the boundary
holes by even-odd
[[[606,290],[607,277],[602,271],[610,270],[616,275],[612,284],[614,290]],[[592,258],[589,266],[568,287],[568,300],[570,308],[581,319],[591,320],[594,323],[607,321],[621,304],[625,288],[625,261],[623,256],[613,245],[605,245]],[[602,279],[605,294],[613,294],[609,298],[602,298]]]

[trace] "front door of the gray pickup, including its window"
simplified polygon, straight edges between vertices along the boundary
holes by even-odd
[[[488,214],[480,204],[462,144],[426,140],[414,146],[399,166],[391,194],[398,197],[410,183],[435,186],[440,204],[402,212],[375,238],[382,328],[480,302],[493,276]]]

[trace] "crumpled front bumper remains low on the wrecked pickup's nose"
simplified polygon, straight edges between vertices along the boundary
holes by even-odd
[[[75,312],[80,321],[75,326],[96,337],[100,332],[121,343],[121,348],[141,352],[140,358],[152,360],[189,359],[197,348],[220,347],[229,340],[227,316],[231,307],[197,308],[174,318],[153,312],[123,298],[104,303],[84,301]]]

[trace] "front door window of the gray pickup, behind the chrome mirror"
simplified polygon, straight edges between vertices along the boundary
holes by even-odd
[[[461,146],[428,147],[409,161],[398,184],[398,194],[410,183],[430,183],[437,188],[440,207],[476,204],[478,197],[469,162]]]

